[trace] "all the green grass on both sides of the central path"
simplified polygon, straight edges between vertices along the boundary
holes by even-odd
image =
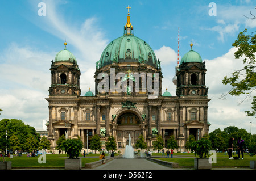
[[[85,163],[95,162],[99,160],[100,154],[88,154],[84,158],[82,154],[80,154],[80,158],[82,158],[82,166],[85,166]],[[119,154],[115,154],[117,157]],[[39,155],[40,156],[40,155]],[[26,154],[23,154],[22,157],[14,156],[11,158],[6,158],[6,161],[11,161],[12,167],[64,167],[65,159],[67,159],[67,154],[46,154],[46,163],[39,163],[38,157],[27,157]],[[154,156],[162,156],[162,153],[153,153]],[[177,158],[176,156],[179,156]],[[234,155],[234,156],[237,156]],[[110,154],[106,154],[106,157],[110,157]],[[171,157],[171,156],[170,156]],[[176,157],[176,158],[175,158]],[[180,167],[193,167],[194,165],[195,155],[193,153],[174,153],[174,158],[156,158],[163,161],[175,162],[179,163]],[[213,167],[244,167],[250,166],[250,160],[256,160],[256,157],[250,157],[250,155],[244,154],[244,159],[241,160],[230,160],[228,155],[224,155],[224,153],[217,153],[217,163],[213,163]]]

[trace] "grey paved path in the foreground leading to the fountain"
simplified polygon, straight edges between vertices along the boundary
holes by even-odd
[[[170,170],[172,168],[159,165],[142,158],[119,158],[102,164],[93,170]]]

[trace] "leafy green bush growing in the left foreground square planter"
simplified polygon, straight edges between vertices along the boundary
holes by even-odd
[[[78,158],[79,154],[82,151],[82,141],[81,138],[78,139],[68,139],[63,142],[62,144],[63,149],[65,153],[67,153],[68,157],[73,159],[73,158]]]

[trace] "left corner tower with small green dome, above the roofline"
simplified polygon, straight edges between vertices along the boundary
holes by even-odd
[[[77,65],[76,57],[67,50],[67,42],[64,43],[65,49],[58,52],[55,60],[51,64],[51,87],[49,96],[55,95],[81,95],[80,90],[80,69]]]

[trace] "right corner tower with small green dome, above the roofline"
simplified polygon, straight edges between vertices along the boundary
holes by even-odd
[[[199,53],[191,50],[181,58],[177,69],[177,96],[208,96],[208,87],[205,86],[205,62]]]

